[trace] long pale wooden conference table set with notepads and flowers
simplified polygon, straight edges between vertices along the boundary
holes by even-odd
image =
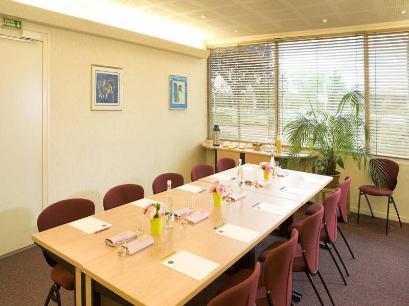
[[[244,168],[255,166],[246,164]],[[32,235],[32,240],[75,275],[77,306],[99,305],[101,295],[122,305],[183,305],[235,263],[242,262],[242,267],[254,266],[254,247],[285,224],[287,219],[291,220],[294,212],[332,180],[323,175],[285,171],[289,175],[273,177],[265,187],[245,185],[244,198],[231,203],[223,202],[221,207],[214,207],[213,195],[207,191],[191,193],[172,189],[175,210],[186,207],[188,196],[193,194],[194,210],[207,210],[210,216],[187,227],[181,227],[180,221],[175,221],[172,230],[164,229],[162,235],[153,236],[152,245],[132,256],[127,254],[119,257],[116,248],[104,243],[106,238],[118,233],[135,231],[136,216],[143,211],[132,203],[95,214],[95,218],[112,224],[109,230],[101,233],[86,234],[69,224],[63,224]],[[237,168],[218,174],[237,176]],[[245,170],[244,177],[251,180],[254,173]],[[203,177],[189,185],[209,188],[216,179],[217,175]],[[222,179],[220,182],[225,185],[229,183]],[[299,192],[302,195],[288,190],[284,192],[283,187],[303,192]],[[148,198],[165,202],[165,196],[166,192],[162,192]],[[259,211],[253,207],[257,202],[286,208],[287,213],[280,215]],[[259,235],[249,243],[217,235],[214,227],[220,222],[257,231]],[[145,222],[145,233],[150,234],[148,220]],[[193,253],[218,266],[201,281],[197,281],[161,264],[161,258],[173,250],[176,253],[182,250]]]

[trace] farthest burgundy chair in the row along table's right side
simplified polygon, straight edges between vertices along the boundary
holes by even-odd
[[[339,184],[339,189],[341,190],[341,195],[339,196],[339,203],[338,203],[338,211],[336,215],[336,219],[338,222],[343,222],[347,223],[348,220],[348,194],[349,194],[349,188],[351,186],[351,177],[346,176],[344,182]],[[318,209],[318,206],[320,203],[314,203],[311,205],[306,211],[306,215],[312,215],[313,213],[316,212]],[[345,238],[345,235],[341,228],[339,227],[339,224],[336,224],[336,227],[338,228],[339,234],[341,234],[341,237],[344,239],[345,244],[347,245],[349,252],[352,255],[352,258],[355,259],[354,253],[352,252],[351,247],[349,246],[349,243],[347,239]]]

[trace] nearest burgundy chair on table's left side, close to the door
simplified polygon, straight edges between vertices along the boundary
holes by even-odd
[[[94,215],[94,202],[86,199],[67,199],[56,202],[44,209],[37,218],[38,231],[46,231],[49,228],[56,227],[61,224],[69,223],[90,215]],[[50,299],[61,305],[60,287],[66,290],[74,290],[74,275],[67,271],[62,265],[58,264],[51,256],[42,251],[47,263],[53,267],[51,270],[51,279],[54,285],[51,286],[47,296],[45,306],[48,305]]]

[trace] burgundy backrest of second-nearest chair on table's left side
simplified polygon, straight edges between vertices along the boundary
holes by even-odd
[[[144,188],[140,185],[124,184],[113,187],[104,195],[104,210],[142,199],[144,196]]]

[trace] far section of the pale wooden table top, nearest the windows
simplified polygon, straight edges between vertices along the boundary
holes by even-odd
[[[243,165],[244,167],[246,166],[257,166],[253,164],[245,164]],[[219,174],[225,174],[225,175],[231,175],[234,177],[237,177],[237,171],[238,167],[225,170],[222,172],[219,172]],[[272,196],[277,196],[277,197],[282,197],[290,200],[295,200],[295,201],[301,201],[303,204],[305,204],[313,195],[315,195],[317,192],[319,192],[323,187],[325,187],[329,182],[332,181],[332,177],[326,176],[326,175],[319,175],[319,174],[313,174],[313,173],[306,173],[306,172],[300,172],[300,171],[294,171],[294,170],[281,170],[281,171],[286,171],[289,174],[284,177],[272,177],[271,183],[268,184],[265,187],[254,187],[254,185],[245,185],[244,184],[244,190],[247,191],[254,191],[262,194],[268,194]],[[253,171],[246,171],[243,170],[243,175],[244,175],[244,180],[249,180],[249,181],[254,181],[255,175]],[[316,184],[316,183],[310,183],[306,181],[300,180],[301,177],[313,177],[314,179],[319,179],[322,180],[325,184]],[[258,178],[263,179],[263,171],[261,169],[258,170]],[[202,182],[207,182],[207,183],[213,183],[214,181],[218,180],[215,177],[212,176],[206,176],[203,177],[202,179],[199,179],[199,181]],[[229,182],[228,181],[223,181],[219,180],[221,184],[228,186]],[[233,186],[237,187],[237,179],[232,181]],[[298,194],[291,194],[287,192],[282,192],[280,191],[280,188],[282,187],[293,187],[293,188],[300,188],[300,189],[305,189],[310,191],[310,195],[304,196],[304,195],[298,195]]]

